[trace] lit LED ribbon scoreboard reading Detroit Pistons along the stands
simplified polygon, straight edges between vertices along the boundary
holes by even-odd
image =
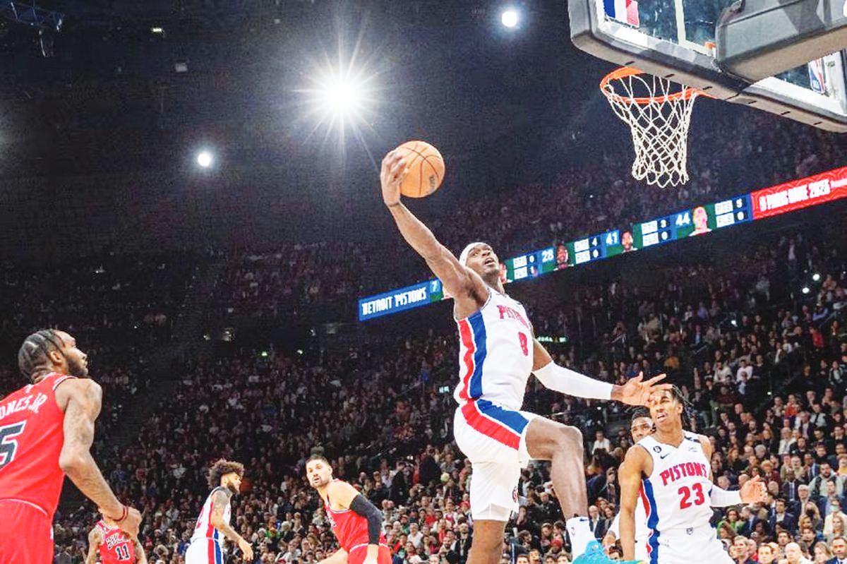
[[[577,241],[550,246],[503,261],[504,283],[531,279],[563,268],[638,251],[685,237],[705,235],[730,225],[770,218],[847,197],[847,167],[833,169],[784,184],[762,188],[721,202],[690,207],[677,213],[634,224],[632,229],[612,229]],[[361,298],[359,321],[442,301],[439,279]]]

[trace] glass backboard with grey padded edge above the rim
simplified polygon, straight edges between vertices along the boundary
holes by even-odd
[[[623,66],[694,86],[712,97],[847,131],[844,52],[753,84],[715,59],[717,23],[734,0],[570,0],[577,47]]]

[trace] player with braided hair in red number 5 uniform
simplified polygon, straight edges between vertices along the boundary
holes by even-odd
[[[91,457],[102,389],[64,331],[43,329],[18,352],[30,380],[0,400],[0,564],[53,562],[53,513],[62,481],[136,537],[141,513],[119,502]]]

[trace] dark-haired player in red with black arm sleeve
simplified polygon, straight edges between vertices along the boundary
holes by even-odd
[[[352,485],[332,478],[324,456],[306,461],[309,484],[324,500],[324,509],[340,549],[318,564],[391,564],[391,550],[382,534],[382,511]]]

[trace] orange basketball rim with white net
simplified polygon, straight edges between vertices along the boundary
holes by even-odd
[[[691,110],[705,93],[632,67],[604,76],[600,90],[632,131],[634,178],[660,188],[688,182]]]

